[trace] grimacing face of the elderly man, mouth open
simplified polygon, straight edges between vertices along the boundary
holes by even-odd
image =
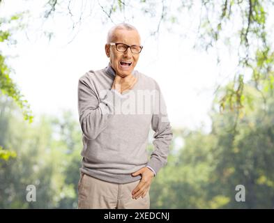
[[[124,43],[126,45],[140,45],[139,33],[135,30],[116,29],[113,33],[112,43]],[[126,52],[119,52],[115,45],[105,45],[105,52],[109,57],[112,68],[116,74],[126,77],[132,73],[139,59],[139,54],[132,54],[130,48]],[[130,66],[128,63],[130,62]]]

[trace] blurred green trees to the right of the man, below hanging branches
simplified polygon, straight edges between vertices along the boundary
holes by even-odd
[[[243,116],[229,109],[220,114],[215,104],[209,134],[174,131],[174,138],[185,144],[153,181],[151,208],[273,207],[273,95],[268,93],[264,101],[257,89],[245,91],[257,106],[245,107]],[[245,186],[245,202],[236,202],[236,185]]]

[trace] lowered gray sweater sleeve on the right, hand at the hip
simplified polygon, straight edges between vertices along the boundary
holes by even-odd
[[[155,132],[153,134],[154,150],[153,153],[151,153],[151,159],[147,166],[153,168],[157,174],[160,168],[167,164],[169,146],[173,137],[172,127],[170,126],[169,118],[167,116],[165,100],[157,83],[151,128]]]

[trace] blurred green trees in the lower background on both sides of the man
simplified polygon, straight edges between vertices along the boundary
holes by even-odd
[[[168,162],[153,179],[151,208],[271,208],[274,200],[274,100],[245,89],[257,106],[243,116],[211,111],[212,131],[174,130]],[[243,92],[245,93],[245,92]],[[32,125],[1,102],[0,144],[17,153],[0,160],[1,208],[77,208],[82,134],[77,118],[41,116]],[[238,118],[238,128],[234,127]],[[16,124],[16,125],[15,125]],[[6,132],[6,134],[5,134]],[[176,141],[183,144],[178,147]],[[148,145],[151,153],[153,145]],[[36,185],[37,201],[26,202],[26,185]],[[236,202],[244,185],[245,202]]]

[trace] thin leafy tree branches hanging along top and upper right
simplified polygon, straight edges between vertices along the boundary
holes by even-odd
[[[190,36],[191,33],[186,32],[181,26],[185,21],[197,20],[199,17],[199,24],[195,27],[197,41],[193,47],[206,51],[215,49],[216,65],[222,62],[222,53],[229,51],[231,47],[238,60],[238,68],[230,77],[233,82],[230,82],[225,91],[222,91],[219,101],[221,109],[224,109],[227,104],[236,112],[243,109],[245,100],[250,96],[244,94],[244,92],[248,94],[248,91],[243,91],[250,80],[250,72],[257,91],[261,91],[265,86],[273,90],[274,49],[272,41],[274,34],[271,29],[273,21],[270,15],[274,10],[274,1],[114,0],[112,2],[91,2],[81,10],[82,13],[77,14],[76,8],[82,7],[72,4],[71,1],[47,1],[44,17],[54,18],[55,13],[63,13],[64,16],[71,17],[72,29],[75,29],[85,22],[83,17],[90,16],[90,14],[85,14],[86,10],[93,11],[93,8],[98,6],[102,20],[109,20],[114,24],[134,22],[140,15],[146,17],[147,20],[154,21],[155,26],[148,28],[154,36],[160,35],[161,29],[169,29],[180,36]],[[224,84],[226,83],[220,85]],[[220,86],[217,90],[219,88]]]

